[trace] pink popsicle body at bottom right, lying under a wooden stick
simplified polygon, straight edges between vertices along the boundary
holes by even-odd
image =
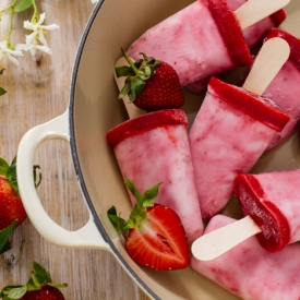
[[[235,221],[217,215],[205,233]],[[300,245],[290,244],[283,251],[265,251],[255,237],[211,262],[191,259],[194,271],[206,276],[244,300],[299,300]]]

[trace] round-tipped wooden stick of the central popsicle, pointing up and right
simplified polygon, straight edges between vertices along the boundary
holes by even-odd
[[[260,50],[243,88],[262,95],[290,55],[288,43],[279,37],[268,39]]]

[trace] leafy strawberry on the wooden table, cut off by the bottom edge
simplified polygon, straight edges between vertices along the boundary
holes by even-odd
[[[33,273],[26,285],[4,287],[0,292],[3,300],[64,300],[59,288],[67,284],[53,284],[50,274],[38,263],[33,263]]]

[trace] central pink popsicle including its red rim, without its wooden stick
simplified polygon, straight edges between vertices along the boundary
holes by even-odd
[[[213,77],[189,139],[202,216],[224,208],[233,180],[248,172],[289,120],[271,100]]]

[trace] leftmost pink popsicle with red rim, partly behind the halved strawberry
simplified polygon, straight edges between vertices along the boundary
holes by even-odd
[[[116,127],[107,133],[107,141],[123,178],[131,179],[139,191],[163,182],[157,203],[176,211],[189,240],[194,240],[202,235],[203,223],[187,127],[182,110],[159,110]]]

